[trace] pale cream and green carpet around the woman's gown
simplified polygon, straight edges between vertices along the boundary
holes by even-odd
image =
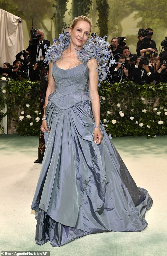
[[[55,256],[167,255],[167,136],[113,138],[137,186],[146,188],[154,203],[146,212],[142,232],[106,232],[79,238],[59,248],[35,243],[36,220],[30,210],[41,164],[38,137],[0,135],[1,251],[50,251]]]

